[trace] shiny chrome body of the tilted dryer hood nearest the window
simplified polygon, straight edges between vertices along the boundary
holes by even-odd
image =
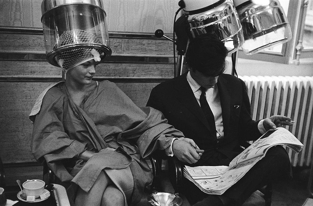
[[[291,29],[283,8],[277,0],[261,6],[245,3],[236,7],[243,28],[243,51],[255,54],[267,47],[291,39]]]

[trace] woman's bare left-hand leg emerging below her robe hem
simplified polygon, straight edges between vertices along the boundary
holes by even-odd
[[[77,195],[75,198],[75,206],[79,205],[101,205],[102,196],[105,192],[105,189],[108,185],[112,184],[110,178],[101,171],[98,178],[95,181],[95,184],[91,189],[86,193],[80,187],[78,188]]]

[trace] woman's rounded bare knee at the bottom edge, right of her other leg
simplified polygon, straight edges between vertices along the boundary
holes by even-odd
[[[101,205],[124,205],[123,193],[115,185],[107,186],[102,195]]]

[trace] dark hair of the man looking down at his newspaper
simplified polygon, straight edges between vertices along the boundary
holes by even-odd
[[[226,69],[228,50],[214,34],[202,34],[192,39],[186,52],[186,62],[192,71],[206,76],[218,76]]]

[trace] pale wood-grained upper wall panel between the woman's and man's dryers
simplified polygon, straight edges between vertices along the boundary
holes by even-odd
[[[109,31],[172,33],[178,0],[103,1]]]

